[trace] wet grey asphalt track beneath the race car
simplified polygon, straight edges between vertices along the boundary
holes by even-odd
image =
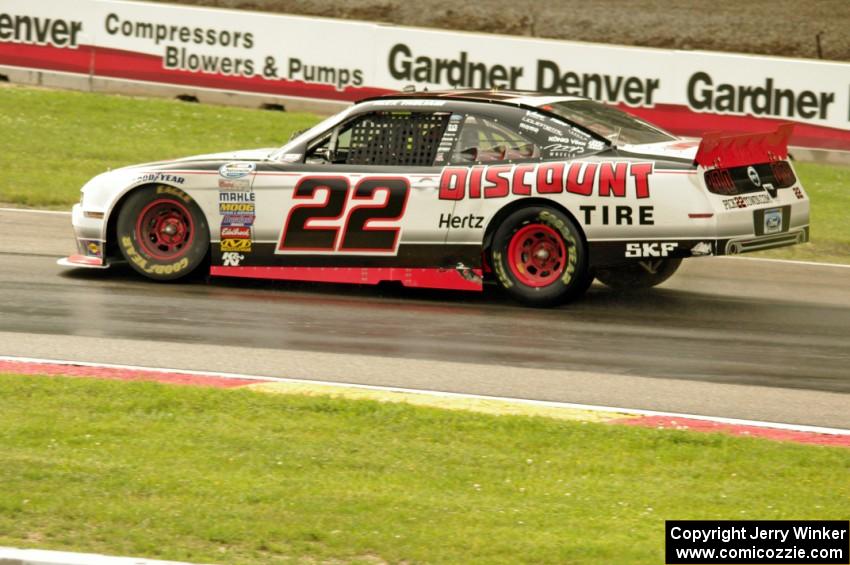
[[[458,374],[451,388],[478,394],[505,394],[505,383],[488,388],[486,375],[476,374],[482,366],[533,368],[548,370],[552,386],[513,382],[513,395],[570,402],[589,400],[559,392],[558,372],[582,371],[638,378],[630,381],[636,383],[631,407],[644,407],[640,378],[700,383],[700,395],[706,383],[755,385],[734,409],[713,405],[707,395],[702,413],[764,419],[747,409],[759,403],[759,391],[790,389],[799,391],[799,402],[786,395],[787,407],[768,416],[850,427],[848,268],[696,259],[651,291],[623,295],[594,285],[580,302],[531,310],[497,292],[225,279],[162,285],[140,280],[128,267],[68,271],[55,259],[73,250],[69,222],[65,215],[0,211],[0,332],[7,333],[0,353],[28,355],[24,336],[41,334],[193,344],[199,352],[239,346],[258,355],[297,350],[426,359],[475,367]],[[8,334],[20,335],[20,346]],[[52,356],[69,354],[57,345]],[[201,353],[193,365],[224,370]],[[340,380],[352,380],[342,373]],[[289,376],[285,367],[279,374]],[[420,375],[411,383],[399,375],[381,382],[447,388],[444,379],[433,380]],[[612,390],[610,404],[626,405],[622,392]],[[604,391],[592,400],[600,398]],[[830,418],[816,417],[822,398]],[[673,401],[643,404],[683,410]],[[836,419],[842,405],[848,416]]]

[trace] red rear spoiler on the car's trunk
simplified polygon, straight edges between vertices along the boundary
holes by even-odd
[[[776,131],[724,136],[718,132],[705,134],[694,157],[703,167],[740,167],[788,158],[788,140],[794,124],[782,124]]]

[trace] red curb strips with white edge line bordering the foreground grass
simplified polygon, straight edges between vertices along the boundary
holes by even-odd
[[[659,412],[656,410],[623,408],[618,406],[598,406],[550,400],[532,400],[527,398],[444,392],[427,389],[244,375],[237,373],[140,367],[108,363],[87,363],[57,359],[37,359],[16,356],[0,356],[0,373],[3,372],[28,375],[61,375],[125,381],[153,381],[176,385],[207,386],[217,388],[238,388],[258,383],[289,383],[299,385],[320,385],[323,387],[336,387],[339,389],[354,388],[388,393],[405,393],[448,399],[495,400],[527,406],[541,406],[547,408],[563,408],[615,414],[616,417],[608,420],[608,423],[614,424],[661,429],[690,430],[694,432],[719,432],[778,441],[850,447],[850,430],[840,428],[786,424],[781,422],[763,422],[758,420],[742,420],[737,418],[723,418],[719,416],[701,414],[679,414],[674,412]]]

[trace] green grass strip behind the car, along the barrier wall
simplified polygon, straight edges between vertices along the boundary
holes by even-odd
[[[0,88],[0,202],[68,208],[110,168],[198,153],[275,147],[317,116],[174,100]],[[850,262],[850,167],[799,163],[812,242],[754,257]]]

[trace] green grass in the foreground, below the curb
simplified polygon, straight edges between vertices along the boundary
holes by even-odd
[[[0,460],[0,545],[195,562],[658,563],[850,499],[842,448],[8,374]]]

